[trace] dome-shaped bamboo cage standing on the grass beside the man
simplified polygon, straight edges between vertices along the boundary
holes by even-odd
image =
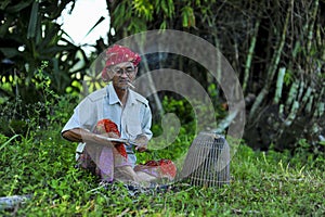
[[[190,146],[180,178],[199,187],[229,184],[230,146],[224,137],[200,132]]]

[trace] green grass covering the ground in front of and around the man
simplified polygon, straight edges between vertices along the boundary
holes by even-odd
[[[253,152],[243,144],[231,162],[229,186],[176,183],[174,190],[165,193],[131,195],[118,183],[99,188],[94,177],[76,169],[76,143],[63,140],[58,131],[60,126],[12,140],[0,136],[0,196],[31,194],[26,203],[0,215],[325,215],[325,158],[321,155]]]

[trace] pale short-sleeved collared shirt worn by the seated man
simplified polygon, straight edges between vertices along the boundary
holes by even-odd
[[[145,135],[150,140],[152,112],[148,101],[139,93],[129,90],[126,106],[122,106],[114,87],[108,84],[105,88],[96,90],[86,97],[74,110],[74,114],[61,132],[74,128],[83,128],[93,131],[96,123],[108,118],[113,120],[122,139],[135,139],[138,135]],[[128,161],[135,164],[136,157],[133,146],[127,145]]]

